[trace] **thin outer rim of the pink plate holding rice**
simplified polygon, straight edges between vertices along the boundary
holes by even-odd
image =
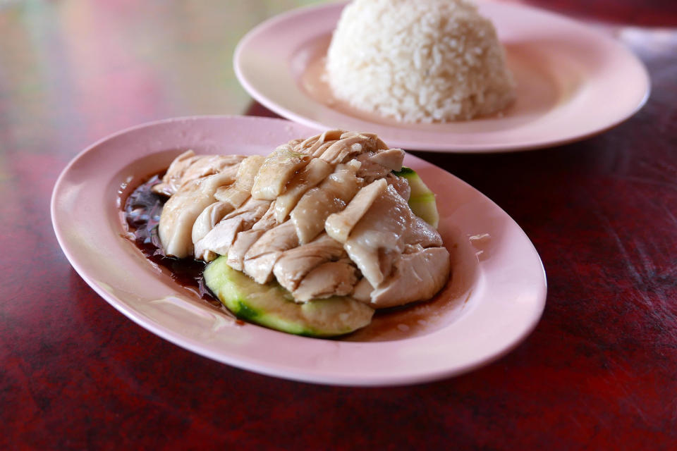
[[[618,39],[614,39],[613,37],[604,34],[604,32],[596,30],[594,27],[588,25],[585,22],[575,20],[574,18],[571,18],[569,16],[565,16],[563,14],[556,13],[554,11],[549,11],[547,9],[537,8],[535,6],[523,4],[497,3],[491,0],[476,0],[476,3],[478,4],[478,6],[484,6],[489,8],[499,7],[499,8],[512,8],[514,10],[531,11],[532,13],[539,13],[549,16],[553,20],[559,20],[568,23],[568,26],[585,28],[587,32],[590,32],[593,35],[595,35],[597,39],[600,39],[603,42],[606,42],[607,44],[611,44],[613,47],[616,47],[616,50],[619,52],[619,54],[623,54],[623,57],[626,58],[627,61],[632,61],[635,68],[640,70],[640,72],[642,73],[642,89],[641,89],[642,95],[638,97],[638,101],[633,106],[633,108],[627,109],[626,111],[624,111],[623,114],[618,115],[616,118],[614,118],[613,121],[609,121],[609,123],[606,123],[603,127],[585,130],[583,132],[569,133],[568,136],[555,137],[551,139],[540,139],[540,140],[537,139],[531,141],[525,140],[524,142],[514,142],[511,144],[501,144],[501,142],[494,142],[493,144],[487,143],[446,144],[439,142],[406,142],[402,140],[393,139],[392,137],[384,136],[384,139],[391,142],[391,144],[401,147],[403,149],[410,149],[415,151],[459,153],[459,154],[505,153],[505,152],[522,152],[536,149],[546,149],[550,147],[561,146],[564,144],[570,144],[572,142],[586,140],[587,138],[597,136],[608,130],[611,130],[612,128],[615,128],[619,124],[623,123],[624,121],[627,121],[629,118],[638,113],[638,111],[642,109],[642,107],[646,104],[647,100],[649,99],[649,96],[651,94],[651,78],[649,77],[649,73],[645,64],[640,60],[640,58],[638,58],[638,56],[636,56],[633,53],[633,51],[628,49],[628,47],[626,47],[623,43],[619,42]],[[269,99],[269,97],[263,94],[260,91],[260,89],[257,88],[257,86],[252,84],[252,82],[250,82],[250,80],[248,79],[247,75],[245,75],[242,67],[243,66],[242,61],[243,54],[245,54],[245,52],[248,50],[250,42],[256,37],[259,37],[259,35],[264,34],[264,32],[269,27],[278,25],[279,23],[285,23],[288,20],[295,20],[299,17],[303,17],[310,14],[322,13],[325,11],[338,10],[338,13],[340,13],[341,9],[345,7],[346,4],[347,4],[346,1],[336,1],[329,2],[327,4],[302,6],[300,8],[294,8],[291,11],[286,11],[277,16],[264,20],[262,23],[259,23],[258,25],[253,27],[248,33],[246,33],[242,37],[242,39],[240,39],[240,42],[238,42],[236,49],[233,52],[233,69],[236,74],[236,78],[240,82],[240,85],[243,86],[245,91],[248,92],[248,94],[250,94],[252,98],[255,99],[255,101],[258,101],[267,109],[273,111],[276,114],[279,114],[283,118],[300,123],[310,128],[315,128],[315,130],[322,130],[334,126],[334,124],[320,123],[315,119],[303,116],[302,113],[295,113],[295,111],[291,111],[290,109],[288,109],[288,106],[284,104],[279,104],[279,102],[273,99]],[[331,30],[327,31],[331,32]],[[303,89],[299,90],[303,92]],[[638,93],[640,92],[639,88],[637,92]],[[313,104],[319,104],[319,102],[315,101],[315,99],[312,99],[312,97],[308,96],[307,94],[305,95],[305,99],[311,101]],[[331,109],[330,107],[327,108]],[[355,116],[350,116],[347,113],[341,113],[338,111],[336,112],[341,114],[342,116],[350,118],[351,120],[364,123],[365,125],[367,125],[367,127],[365,128],[369,128],[368,127],[369,125],[384,126],[386,128],[394,127],[391,125],[372,123],[370,121],[362,121],[360,118],[355,118]],[[454,135],[453,132],[439,132],[439,136],[458,137],[459,135],[458,134]]]

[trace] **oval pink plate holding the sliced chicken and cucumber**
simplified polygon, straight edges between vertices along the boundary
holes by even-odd
[[[414,156],[438,194],[453,277],[431,303],[377,317],[349,340],[320,340],[238,325],[150,264],[125,238],[118,199],[185,149],[268,154],[312,130],[288,121],[198,117],[131,128],[78,155],[54,187],[56,237],[75,271],[116,309],[157,335],[250,371],[337,385],[395,385],[453,376],[523,340],[544,308],[533,245],[496,204]],[[122,194],[119,194],[122,193]]]

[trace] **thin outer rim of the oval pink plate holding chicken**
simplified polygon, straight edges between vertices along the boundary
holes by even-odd
[[[158,125],[166,124],[166,123],[173,123],[173,122],[180,122],[183,123],[185,121],[202,121],[202,120],[217,120],[217,121],[231,121],[231,120],[248,120],[248,121],[276,121],[285,125],[293,124],[293,125],[298,125],[295,123],[291,123],[290,121],[286,121],[283,119],[276,119],[276,118],[257,118],[257,117],[252,117],[252,116],[221,116],[221,115],[214,115],[214,116],[186,116],[183,118],[169,118],[169,119],[164,119],[161,121],[152,121],[149,123],[143,123],[140,125],[135,125],[130,128],[126,128],[124,130],[120,130],[118,132],[114,132],[111,135],[102,138],[101,140],[98,140],[97,142],[94,142],[94,144],[91,144],[90,146],[86,147],[82,152],[78,153],[73,160],[71,160],[66,168],[63,169],[61,174],[59,175],[59,178],[56,180],[56,183],[54,185],[54,190],[52,191],[52,196],[51,196],[51,202],[50,202],[50,213],[51,213],[51,222],[52,226],[54,228],[54,232],[56,234],[57,240],[59,242],[59,245],[61,249],[63,250],[64,254],[66,254],[66,257],[68,261],[70,262],[71,266],[75,269],[75,271],[80,275],[80,277],[85,280],[87,285],[90,285],[90,287],[97,292],[97,294],[106,300],[109,304],[111,304],[116,310],[120,311],[121,314],[124,316],[127,316],[128,319],[131,319],[135,323],[137,323],[139,326],[142,328],[145,328],[146,330],[150,330],[150,332],[154,333],[155,335],[158,335],[161,338],[164,338],[165,340],[168,340],[169,342],[172,342],[174,345],[178,345],[179,347],[183,347],[186,350],[190,350],[190,352],[195,352],[196,354],[200,354],[204,357],[207,357],[209,359],[214,359],[217,362],[221,362],[224,364],[228,364],[230,366],[235,366],[240,369],[245,369],[248,371],[255,371],[257,373],[262,373],[267,376],[274,376],[274,377],[279,377],[279,378],[286,378],[294,381],[303,381],[307,383],[322,383],[326,385],[342,385],[342,386],[385,386],[385,385],[410,385],[413,383],[425,383],[429,381],[434,381],[434,380],[439,380],[441,378],[447,378],[451,376],[456,376],[460,373],[465,373],[467,371],[472,371],[473,369],[476,369],[477,367],[484,366],[486,364],[489,364],[491,362],[494,362],[496,359],[499,359],[503,357],[505,354],[508,352],[511,352],[515,347],[517,347],[523,340],[529,335],[532,330],[537,326],[537,323],[539,323],[539,320],[543,314],[544,307],[546,304],[546,298],[547,298],[547,278],[545,275],[544,267],[542,264],[542,261],[538,255],[537,250],[535,249],[533,243],[529,240],[527,237],[526,233],[518,224],[503,210],[500,208],[500,206],[496,205],[493,201],[491,201],[488,197],[486,197],[484,194],[476,190],[474,187],[471,187],[468,185],[468,183],[465,183],[463,180],[459,179],[455,175],[449,174],[443,169],[432,165],[432,163],[428,163],[424,160],[417,159],[417,157],[413,156],[413,158],[417,161],[421,161],[425,165],[432,166],[434,168],[439,169],[439,171],[444,171],[445,173],[451,175],[451,177],[455,178],[458,183],[461,183],[465,185],[465,187],[470,188],[473,190],[473,192],[476,192],[479,194],[481,197],[486,199],[488,202],[490,202],[494,208],[499,209],[507,218],[509,218],[510,221],[516,226],[516,228],[519,230],[519,233],[523,235],[523,238],[526,240],[526,242],[529,243],[530,245],[530,252],[535,256],[537,263],[539,265],[539,271],[542,273],[542,287],[540,288],[539,292],[539,304],[538,308],[532,311],[532,318],[530,319],[529,323],[526,325],[521,330],[521,333],[516,337],[511,340],[507,345],[504,345],[499,352],[494,352],[491,356],[488,358],[480,359],[477,360],[477,362],[474,362],[472,364],[468,364],[465,366],[456,366],[452,369],[441,369],[439,371],[423,371],[423,372],[417,372],[417,371],[411,371],[410,373],[406,373],[403,375],[396,375],[396,376],[390,376],[384,378],[383,376],[379,377],[370,377],[370,378],[360,378],[360,377],[355,377],[355,376],[350,376],[350,375],[342,375],[340,377],[332,377],[332,376],[327,376],[327,375],[322,375],[322,374],[317,374],[313,373],[312,371],[306,372],[303,374],[298,373],[298,369],[295,368],[288,368],[284,366],[270,366],[266,362],[257,362],[255,359],[255,362],[240,362],[238,359],[224,359],[223,356],[216,356],[212,352],[208,352],[203,348],[200,348],[200,343],[199,342],[194,342],[195,340],[177,340],[176,336],[173,336],[172,333],[168,333],[167,330],[164,328],[155,325],[154,323],[149,322],[149,321],[144,321],[139,314],[137,314],[132,307],[128,306],[128,304],[121,300],[121,299],[115,299],[111,300],[111,293],[107,292],[101,285],[99,285],[99,282],[97,280],[94,280],[87,271],[85,271],[85,268],[83,268],[79,262],[78,258],[75,257],[73,252],[71,252],[71,249],[67,243],[66,237],[64,234],[61,233],[61,225],[57,221],[57,214],[58,214],[58,201],[59,201],[59,194],[61,191],[64,189],[63,185],[66,183],[66,178],[69,176],[71,171],[73,171],[73,168],[80,163],[80,161],[83,161],[85,156],[88,156],[90,153],[94,153],[97,151],[97,149],[102,146],[102,144],[109,142],[110,140],[114,140],[116,137],[119,137],[121,135],[126,135],[129,132],[133,132],[135,130],[140,130],[144,128],[152,128],[156,127]],[[152,154],[152,152],[151,152]],[[130,162],[128,162],[130,163]],[[112,177],[112,174],[111,174]],[[269,331],[273,333],[277,333],[276,331]],[[285,334],[287,335],[287,334]],[[408,338],[405,340],[419,340],[421,338],[425,338],[426,335],[423,337],[414,337],[414,338]],[[300,338],[302,340],[315,340],[315,339],[308,339],[308,338]],[[384,343],[396,343],[400,340],[394,340],[391,342],[340,342],[343,343],[344,345],[347,345],[348,347],[374,347],[374,346],[382,346]],[[322,371],[320,371],[321,373]]]

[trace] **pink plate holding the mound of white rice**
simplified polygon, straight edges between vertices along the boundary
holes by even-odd
[[[317,94],[343,4],[301,8],[258,25],[238,44],[238,80],[267,108],[316,129],[377,133],[391,146],[437,152],[507,152],[573,142],[633,115],[649,76],[628,49],[569,18],[516,4],[478,2],[494,22],[518,82],[502,117],[403,124],[339,107]]]

